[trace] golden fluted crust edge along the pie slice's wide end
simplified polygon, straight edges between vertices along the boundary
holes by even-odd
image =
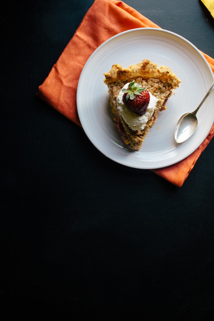
[[[181,80],[167,66],[157,67],[157,64],[148,59],[142,60],[137,65],[130,65],[128,68],[123,68],[119,64],[114,64],[108,73],[104,73],[104,83],[116,82],[118,80],[125,81],[137,77],[158,78],[162,82],[168,82],[175,89],[179,87]]]

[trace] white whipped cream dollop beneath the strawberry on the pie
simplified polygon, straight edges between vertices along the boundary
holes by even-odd
[[[129,83],[126,83],[123,88],[127,89],[129,87]],[[122,89],[123,89],[122,88]],[[123,92],[119,92],[119,95],[117,97],[117,109],[121,117],[123,117],[126,124],[132,129],[132,130],[143,130],[146,126],[146,123],[148,121],[148,118],[152,116],[154,109],[156,107],[156,103],[159,99],[157,99],[155,96],[149,92],[150,95],[150,101],[149,105],[147,107],[147,111],[144,115],[140,116],[134,113],[133,111],[129,110],[123,103]]]

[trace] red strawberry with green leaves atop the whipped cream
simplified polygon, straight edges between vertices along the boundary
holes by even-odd
[[[122,89],[124,105],[138,115],[144,115],[149,105],[150,95],[146,88],[135,81],[129,83],[128,89]]]

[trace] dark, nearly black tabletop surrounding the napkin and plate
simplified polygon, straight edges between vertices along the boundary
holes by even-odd
[[[214,57],[201,1],[125,2]],[[1,319],[211,320],[214,140],[177,188],[36,97],[92,3],[1,10]]]

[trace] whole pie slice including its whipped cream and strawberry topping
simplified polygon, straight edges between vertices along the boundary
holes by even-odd
[[[158,111],[166,109],[166,102],[173,89],[179,87],[180,79],[169,67],[157,67],[156,64],[144,59],[137,65],[123,68],[119,64],[112,66],[109,73],[104,73],[104,83],[108,86],[111,111],[123,141],[133,150],[139,150],[149,128],[157,119]],[[130,87],[130,88],[129,88]],[[133,89],[130,91],[130,89]],[[133,105],[139,95],[148,91],[150,100],[142,113],[128,106],[125,96]],[[135,95],[135,94],[136,95]],[[132,94],[132,95],[131,95]],[[148,94],[147,94],[148,95]],[[137,98],[133,98],[136,96]]]

